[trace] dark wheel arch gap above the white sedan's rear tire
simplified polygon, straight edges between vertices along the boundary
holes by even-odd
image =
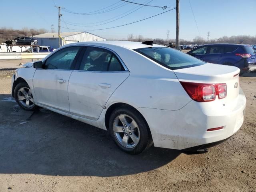
[[[133,106],[131,106],[129,104],[126,104],[126,103],[121,103],[121,102],[120,103],[114,103],[114,104],[112,104],[111,106],[108,107],[108,109],[107,109],[107,111],[105,113],[105,118],[104,118],[104,123],[105,123],[105,126],[106,126],[107,130],[108,130],[108,122],[109,122],[110,115],[118,107],[128,107],[128,108],[132,108],[132,109],[136,110],[141,115],[143,120],[146,122],[146,126],[147,126],[147,128],[149,130],[150,137],[152,138],[152,134],[151,134],[150,128],[148,126],[148,122],[146,121],[144,116],[136,108],[134,108]]]

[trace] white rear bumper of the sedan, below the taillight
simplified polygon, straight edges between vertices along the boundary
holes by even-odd
[[[154,146],[183,150],[218,144],[235,134],[244,121],[246,98],[242,89],[236,101],[224,105],[202,107],[202,103],[189,102],[180,110],[138,108],[148,122]],[[224,128],[206,131],[209,128]],[[199,147],[199,148],[200,148]]]

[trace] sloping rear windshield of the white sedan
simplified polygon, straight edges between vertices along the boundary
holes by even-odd
[[[135,49],[134,51],[172,70],[194,67],[206,63],[186,53],[168,47],[148,47]]]

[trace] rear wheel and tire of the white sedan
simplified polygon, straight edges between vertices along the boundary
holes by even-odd
[[[129,154],[139,154],[153,144],[144,118],[130,107],[119,107],[112,112],[108,131],[117,146]]]

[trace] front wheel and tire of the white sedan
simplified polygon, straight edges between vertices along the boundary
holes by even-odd
[[[36,110],[33,95],[28,84],[22,82],[14,88],[14,98],[21,108],[28,111]]]

